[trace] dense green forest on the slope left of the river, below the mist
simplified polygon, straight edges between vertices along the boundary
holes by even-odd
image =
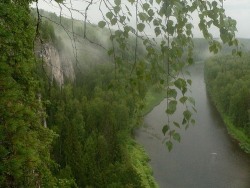
[[[40,67],[39,78],[43,71]],[[61,89],[46,77],[40,82],[43,100],[49,101],[47,125],[58,135],[51,154],[59,165],[55,174],[75,180],[79,187],[156,187],[147,157],[130,137],[138,119],[137,101],[145,96],[145,81],[135,82],[140,87],[136,93],[123,77],[114,80],[114,74],[112,64],[93,62],[76,71],[74,84],[68,81]],[[141,161],[134,161],[135,155]]]

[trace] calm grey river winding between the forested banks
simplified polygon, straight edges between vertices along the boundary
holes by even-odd
[[[244,154],[211,105],[203,77],[203,64],[190,68],[191,96],[195,98],[196,124],[180,130],[181,143],[171,152],[164,145],[162,126],[167,123],[166,100],[144,118],[136,140],[144,146],[154,177],[161,188],[250,188],[250,157]],[[181,107],[174,119],[182,119]]]

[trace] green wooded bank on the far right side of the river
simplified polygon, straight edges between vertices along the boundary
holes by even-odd
[[[228,132],[250,153],[250,54],[219,56],[205,63],[207,90]]]

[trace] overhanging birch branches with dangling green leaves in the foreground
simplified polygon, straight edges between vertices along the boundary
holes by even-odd
[[[181,76],[182,68],[193,63],[192,16],[197,14],[199,17],[199,29],[208,41],[209,50],[214,53],[218,53],[222,44],[210,33],[211,27],[218,29],[223,44],[234,46],[236,49],[232,52],[240,55],[238,40],[235,38],[236,21],[225,15],[223,0],[82,2],[85,3],[84,12],[76,11],[84,16],[84,39],[96,43],[88,38],[86,23],[89,8],[97,4],[102,14],[98,26],[105,32],[108,30],[110,35],[107,53],[113,59],[114,77],[120,83],[122,77],[126,88],[135,91],[136,101],[145,96],[147,85],[153,81],[153,84],[160,83],[167,88],[168,117],[175,112],[178,103],[184,106],[183,119],[180,122],[171,122],[169,118],[169,123],[162,129],[170,150],[171,139],[180,140],[174,127],[180,125],[188,127],[190,123],[195,122],[192,119],[192,114],[195,112],[194,100],[186,96],[191,80]],[[63,1],[60,3],[69,11],[73,11]],[[154,36],[147,34],[149,29]],[[98,44],[98,46],[106,48],[107,45]],[[126,52],[133,54],[132,58],[126,55]],[[124,66],[127,68],[125,73]],[[177,91],[180,91],[180,96],[177,95]]]

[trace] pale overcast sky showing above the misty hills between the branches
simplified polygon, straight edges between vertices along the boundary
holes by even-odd
[[[87,0],[65,0],[64,3],[71,7],[69,2],[72,2],[73,9],[77,9],[79,11],[84,12],[86,7]],[[60,13],[60,8],[56,3],[53,3],[53,0],[39,0],[38,7],[40,9],[44,9],[46,11],[54,12],[57,15]],[[93,2],[98,2],[98,0],[94,0]],[[35,6],[34,4],[32,5]],[[63,7],[63,6],[62,6]],[[226,11],[226,15],[232,17],[237,21],[237,29],[236,37],[238,38],[250,38],[250,0],[224,0],[224,8]],[[66,17],[70,16],[68,10],[63,8],[63,15]],[[73,16],[76,19],[84,20],[83,15],[78,13],[73,13]],[[88,21],[91,23],[98,23],[102,20],[102,16],[100,11],[98,10],[98,4],[95,4],[89,8],[88,11]],[[202,34],[198,31],[198,19],[194,18],[194,37],[202,37]],[[212,34],[215,37],[218,37],[218,32],[212,30]]]

